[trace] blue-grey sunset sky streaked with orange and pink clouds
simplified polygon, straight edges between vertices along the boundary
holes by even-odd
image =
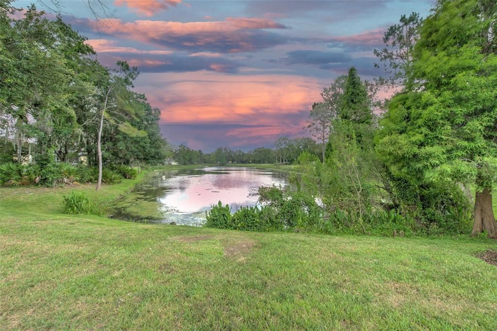
[[[309,135],[320,92],[355,66],[383,74],[373,50],[402,14],[426,17],[431,0],[104,0],[96,20],[87,0],[60,0],[65,21],[88,38],[105,66],[126,60],[135,90],[161,110],[172,144],[272,147]],[[32,1],[16,1],[22,7]],[[49,0],[44,0],[49,2]],[[39,3],[38,3],[39,6]]]

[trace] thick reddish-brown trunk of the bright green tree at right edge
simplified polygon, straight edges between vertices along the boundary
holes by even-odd
[[[497,238],[497,222],[492,206],[492,190],[476,193],[472,236],[487,231],[489,238]]]

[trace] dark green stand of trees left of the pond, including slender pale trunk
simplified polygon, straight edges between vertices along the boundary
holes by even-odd
[[[0,3],[0,163],[29,164],[34,172],[83,163],[96,168],[100,183],[102,168],[170,157],[159,109],[131,89],[137,68],[100,65],[85,40],[34,5],[21,11]],[[21,177],[27,171],[17,169]]]

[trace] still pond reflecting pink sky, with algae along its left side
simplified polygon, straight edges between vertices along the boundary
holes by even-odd
[[[257,205],[259,186],[286,186],[282,171],[249,167],[206,167],[155,171],[114,205],[113,217],[199,226],[218,201],[232,212]]]

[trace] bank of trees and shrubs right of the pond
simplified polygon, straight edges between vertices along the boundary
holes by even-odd
[[[299,195],[268,191],[261,201],[268,207],[239,213],[250,224],[225,217],[220,204],[208,224],[497,238],[496,17],[496,2],[487,0],[439,0],[425,19],[402,16],[375,50],[387,77],[361,81],[351,67],[313,105],[308,127],[324,162],[300,154],[291,176]],[[380,103],[379,88],[393,96]],[[313,201],[322,206],[318,216]]]

